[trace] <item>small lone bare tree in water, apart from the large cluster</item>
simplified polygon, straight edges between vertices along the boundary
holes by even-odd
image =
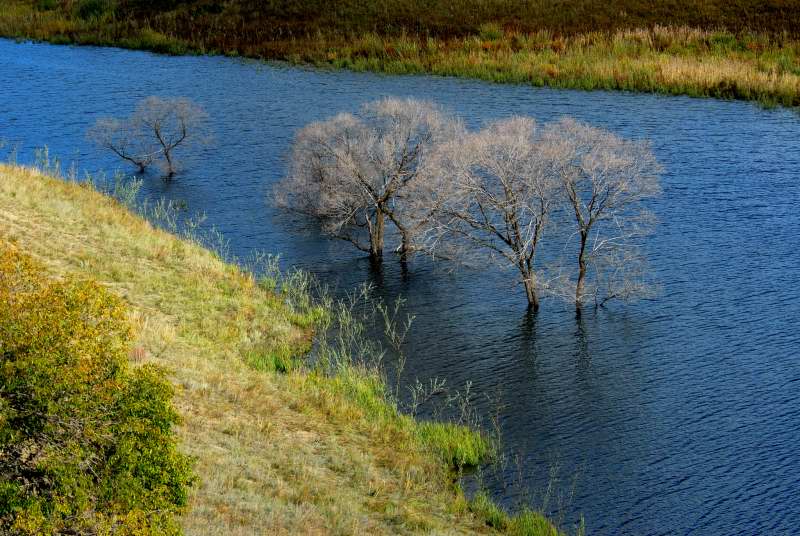
[[[99,119],[88,137],[134,164],[140,173],[160,159],[165,176],[172,178],[179,167],[176,150],[207,141],[207,118],[188,99],[147,97],[130,117]]]

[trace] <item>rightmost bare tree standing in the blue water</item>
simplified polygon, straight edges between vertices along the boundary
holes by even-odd
[[[661,193],[661,166],[649,143],[563,119],[547,127],[541,151],[553,162],[578,237],[577,277],[561,277],[553,288],[572,292],[578,312],[589,298],[602,303],[646,293],[641,239],[655,218],[643,202]]]

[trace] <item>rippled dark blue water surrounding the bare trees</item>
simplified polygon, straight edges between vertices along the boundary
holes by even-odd
[[[0,138],[80,169],[120,164],[86,129],[149,95],[187,96],[216,142],[144,194],[205,212],[232,252],[280,253],[341,292],[362,281],[416,315],[405,377],[472,382],[497,414],[510,463],[485,483],[509,508],[582,513],[590,534],[792,534],[800,523],[800,117],[739,102],[585,93],[436,77],[318,71],[209,57],[0,40]],[[571,115],[648,138],[666,168],[651,261],[662,295],[526,314],[512,274],[382,271],[346,243],[303,232],[265,201],[297,128],[395,95],[434,100],[473,126]],[[2,222],[0,221],[0,228]],[[492,400],[488,401],[484,395]],[[558,511],[560,507],[560,512]]]

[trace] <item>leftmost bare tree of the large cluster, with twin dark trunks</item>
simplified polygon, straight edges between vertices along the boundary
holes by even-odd
[[[363,106],[358,116],[343,113],[312,123],[295,139],[290,170],[276,186],[275,199],[373,260],[383,256],[389,220],[406,259],[414,234],[430,215],[415,197],[432,177],[425,171],[428,153],[460,132],[452,117],[413,99],[383,99]]]

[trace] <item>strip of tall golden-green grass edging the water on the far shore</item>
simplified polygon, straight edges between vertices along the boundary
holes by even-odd
[[[449,40],[366,34],[295,48],[297,61],[355,70],[800,106],[800,45],[765,35],[656,26],[565,37],[487,25],[481,35]]]

